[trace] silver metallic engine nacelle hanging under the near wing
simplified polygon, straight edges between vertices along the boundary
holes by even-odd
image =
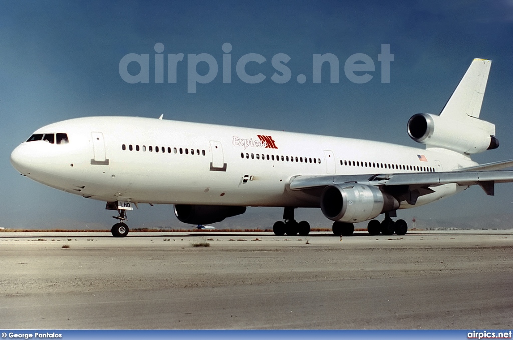
[[[331,221],[364,222],[381,213],[397,210],[399,201],[374,186],[334,184],[321,194],[321,210]]]

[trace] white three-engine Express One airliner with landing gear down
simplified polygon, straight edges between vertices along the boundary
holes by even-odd
[[[307,235],[297,208],[320,208],[332,232],[353,223],[370,235],[404,235],[397,210],[415,208],[479,185],[513,182],[513,160],[479,165],[471,155],[499,147],[495,125],[479,118],[491,61],[476,58],[440,114],[417,113],[409,136],[424,145],[304,133],[100,116],[44,126],[11,153],[22,175],[52,188],[107,202],[117,211],[115,237],[128,234],[127,211],[139,204],[174,205],[179,221],[206,225],[246,212],[281,207],[275,235]],[[382,222],[376,217],[384,214]]]

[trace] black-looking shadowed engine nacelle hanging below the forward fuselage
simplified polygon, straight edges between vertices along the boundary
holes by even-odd
[[[246,207],[230,206],[199,206],[189,204],[175,204],[174,214],[180,222],[205,225],[224,221],[225,218],[241,215]]]

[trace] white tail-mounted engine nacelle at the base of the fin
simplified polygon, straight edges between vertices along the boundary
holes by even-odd
[[[473,154],[497,149],[495,125],[478,118],[465,121],[430,113],[417,113],[408,121],[408,134],[413,141],[460,153]]]

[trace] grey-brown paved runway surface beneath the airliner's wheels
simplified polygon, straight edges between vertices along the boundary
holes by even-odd
[[[4,329],[511,329],[512,241],[511,230],[342,241],[2,232],[0,320]]]

